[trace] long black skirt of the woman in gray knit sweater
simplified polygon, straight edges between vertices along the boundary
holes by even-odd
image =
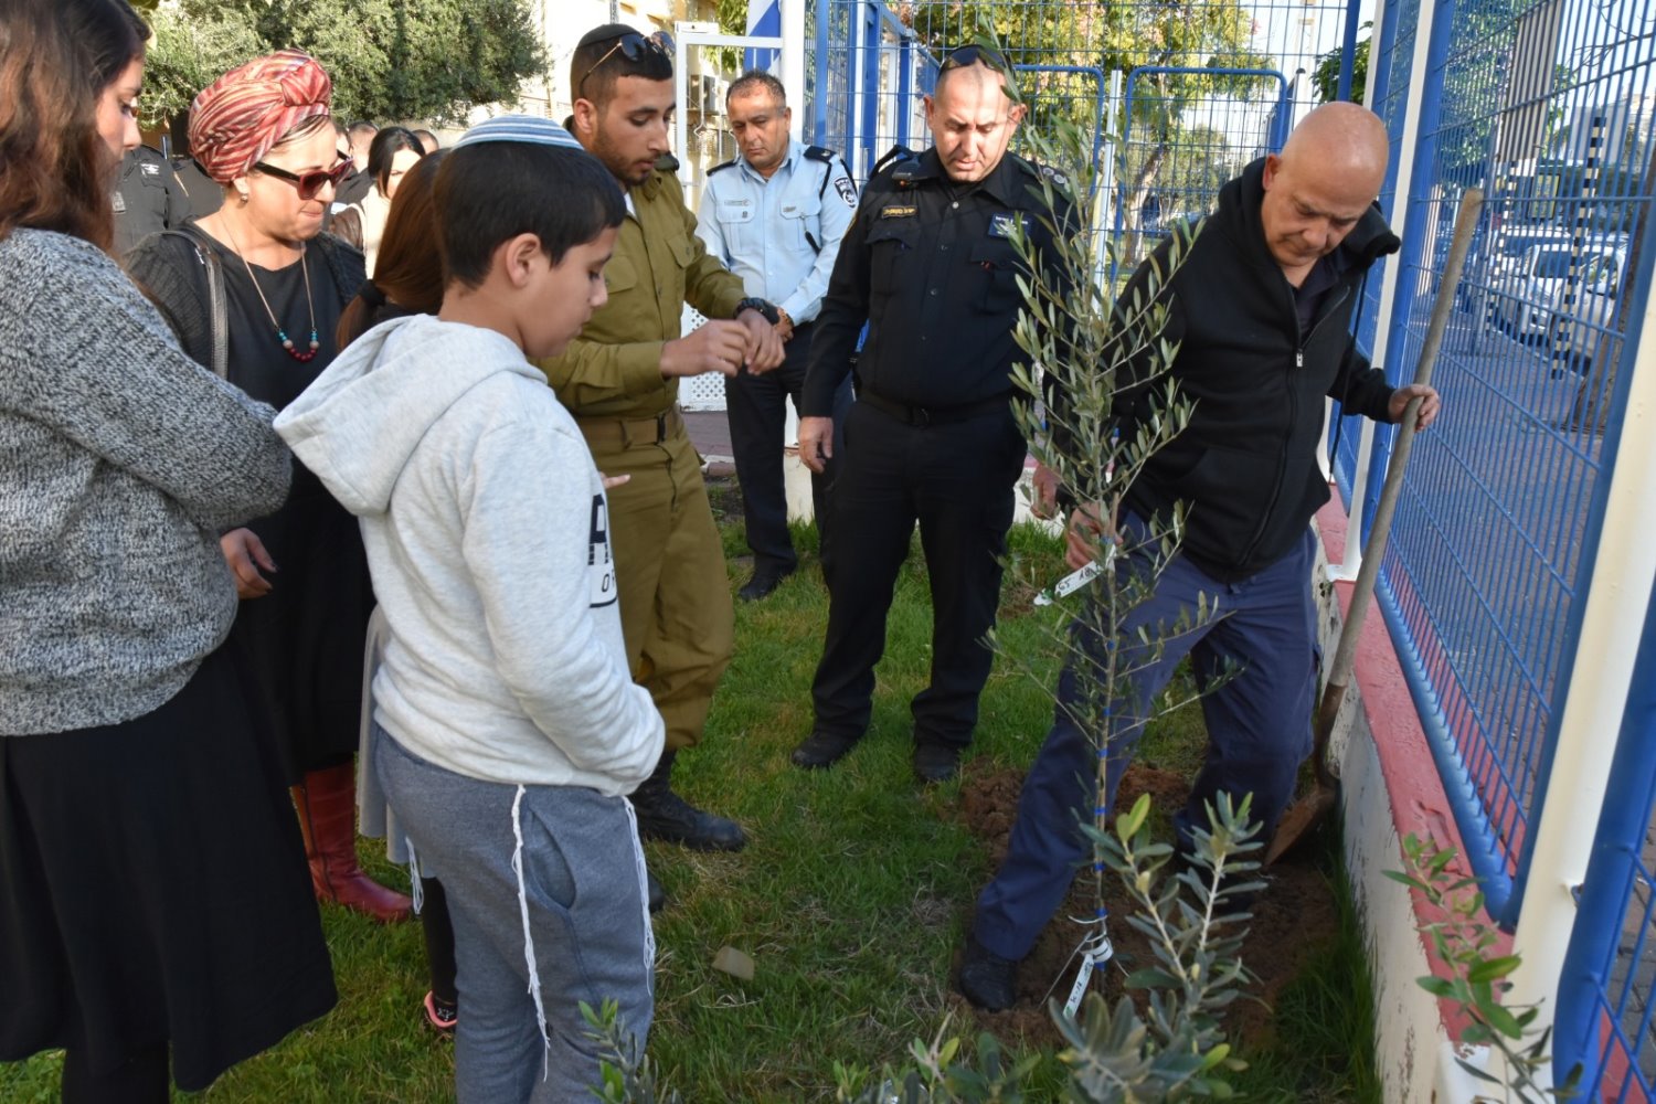
[[[293,806],[227,649],[136,720],[0,738],[0,1061],[214,1078],[326,1013]]]

